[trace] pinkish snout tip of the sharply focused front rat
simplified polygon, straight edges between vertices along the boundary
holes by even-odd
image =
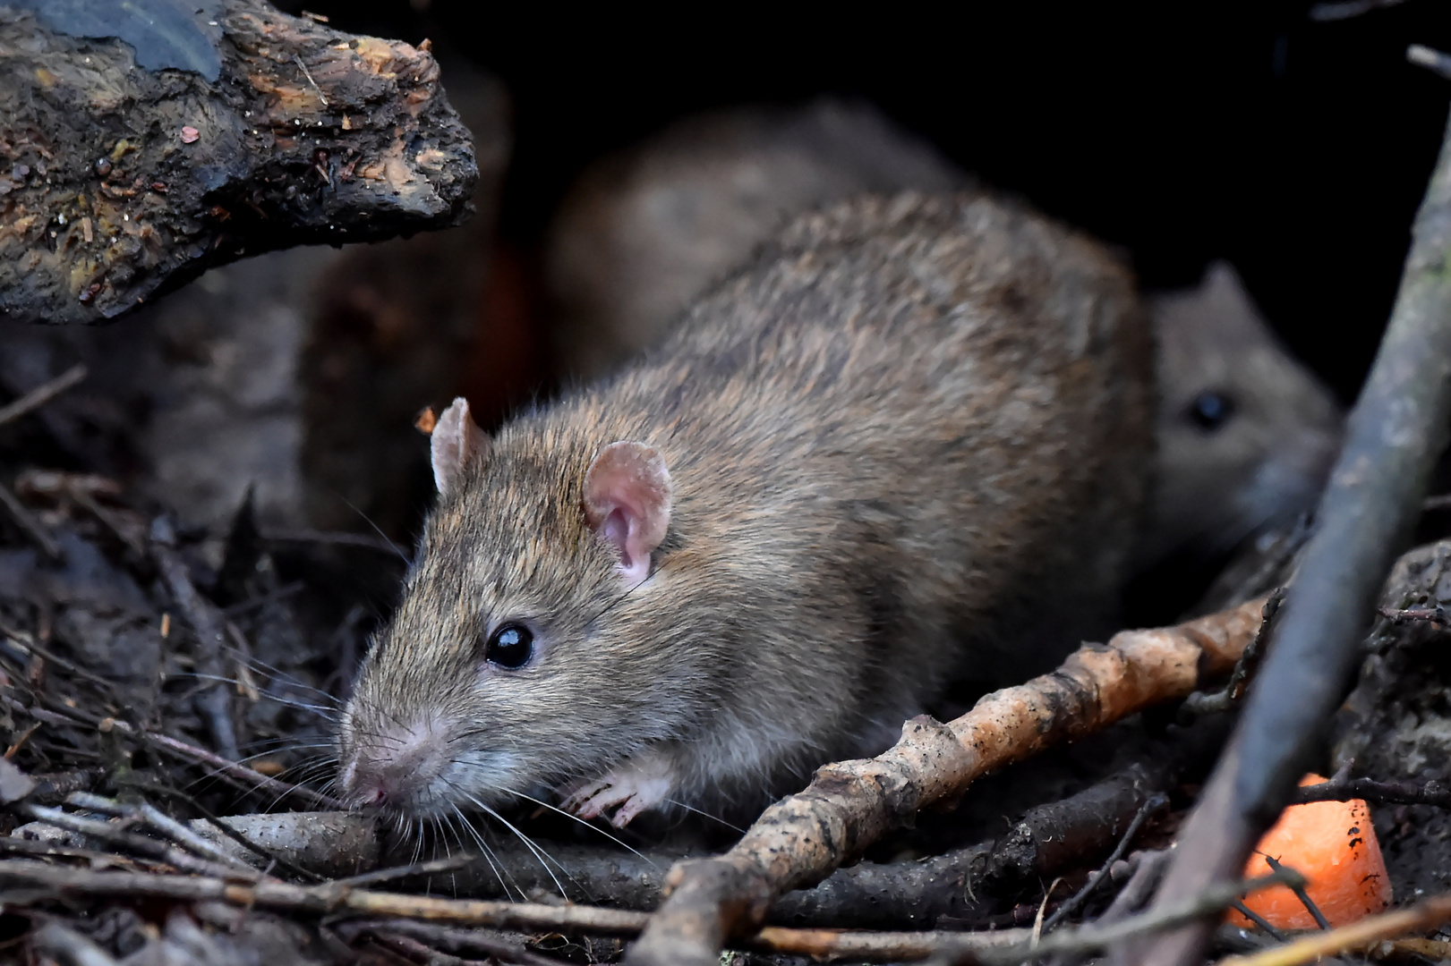
[[[414,725],[351,728],[338,773],[348,808],[427,812],[432,786],[447,766],[447,737],[429,721]]]

